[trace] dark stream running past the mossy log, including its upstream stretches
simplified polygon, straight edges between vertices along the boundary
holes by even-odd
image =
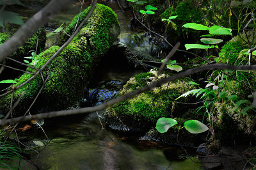
[[[120,10],[116,1],[109,1],[109,4],[114,11]],[[71,20],[70,16],[79,13],[80,7],[77,1],[73,1],[70,8],[60,13],[56,19],[61,22]],[[121,25],[120,37],[131,34],[129,22],[132,11],[116,14]],[[113,98],[130,77],[145,72],[130,68],[125,59],[118,58],[113,50],[106,55],[107,61],[102,61],[96,69],[88,90],[98,90],[97,97],[100,100],[97,99],[93,105]],[[84,101],[86,103],[86,98]],[[99,116],[102,112],[104,111],[98,112]],[[30,161],[34,165],[24,161],[22,169],[200,169],[200,164],[182,157],[184,152],[180,147],[139,141],[138,134],[116,132],[100,119],[104,126],[102,129],[99,119],[97,113],[92,112],[44,120],[43,128],[50,141],[40,127],[24,132],[25,136],[29,136],[26,144],[38,153],[31,151]],[[44,146],[38,147],[33,141],[41,141]]]

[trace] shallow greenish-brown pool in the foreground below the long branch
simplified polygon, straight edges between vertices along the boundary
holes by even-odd
[[[45,132],[52,142],[40,149],[35,161],[38,169],[199,169],[189,159],[170,161],[163,150],[145,148],[138,143],[127,143],[109,130],[102,130],[95,112],[76,123],[63,125]],[[38,135],[42,132],[39,132]],[[172,149],[173,150],[173,149]],[[178,148],[178,150],[180,150]],[[171,157],[177,157],[173,152]]]

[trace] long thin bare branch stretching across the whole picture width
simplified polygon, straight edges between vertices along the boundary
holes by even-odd
[[[127,93],[125,95],[122,95],[121,97],[114,98],[113,100],[109,100],[108,102],[105,102],[101,105],[97,105],[94,107],[85,107],[81,109],[74,109],[74,110],[67,110],[67,111],[53,111],[53,112],[45,112],[40,114],[35,114],[31,116],[20,116],[18,118],[8,119],[8,120],[0,120],[0,126],[4,126],[8,123],[13,124],[20,121],[28,121],[28,120],[36,120],[36,119],[42,119],[42,118],[54,118],[57,116],[67,116],[72,114],[84,114],[89,112],[95,112],[100,111],[106,107],[109,107],[113,104],[124,102],[125,100],[132,98],[140,93],[143,93],[145,91],[152,90],[156,87],[161,86],[162,84],[170,81],[174,81],[176,79],[180,79],[182,77],[191,75],[193,73],[202,72],[204,70],[216,70],[216,69],[223,69],[223,70],[253,70],[256,71],[256,65],[248,66],[248,65],[240,65],[240,66],[232,66],[232,65],[221,65],[221,64],[214,64],[214,65],[204,65],[204,66],[198,66],[193,69],[186,70],[185,72],[177,73],[176,75],[173,75],[171,77],[166,77],[164,79],[161,79],[159,81],[152,82],[150,85],[138,89],[136,91],[132,91],[131,93]]]

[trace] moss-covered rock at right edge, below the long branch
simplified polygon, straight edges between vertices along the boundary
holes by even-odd
[[[243,84],[236,81],[225,82],[226,86],[220,90],[225,95],[221,95],[219,100],[213,104],[214,111],[214,136],[217,139],[225,141],[232,139],[237,134],[255,135],[256,109],[250,109],[243,112],[244,108],[251,105],[251,99],[248,95],[252,94],[251,89],[246,89]],[[236,95],[239,98],[235,98]],[[247,100],[243,104],[237,106],[239,101]],[[238,102],[238,103],[237,103]]]

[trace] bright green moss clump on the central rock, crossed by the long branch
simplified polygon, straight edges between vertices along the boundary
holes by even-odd
[[[141,73],[132,77],[125,84],[120,95],[134,91],[134,89],[147,86],[156,75],[156,71]],[[159,78],[166,77],[162,74]],[[179,107],[175,104],[175,98],[186,91],[193,89],[188,81],[175,81],[154,88],[152,91],[142,93],[130,100],[109,107],[104,118],[107,123],[118,120],[124,125],[131,125],[137,128],[148,128],[154,126],[158,118],[161,117],[180,117],[189,108]],[[189,98],[180,98],[182,102],[188,102]],[[114,118],[113,118],[114,117]]]

